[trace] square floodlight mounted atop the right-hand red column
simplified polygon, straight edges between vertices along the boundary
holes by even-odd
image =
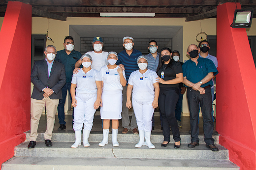
[[[251,28],[254,10],[236,9],[232,28]]]

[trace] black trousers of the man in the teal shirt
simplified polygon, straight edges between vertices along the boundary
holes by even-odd
[[[213,134],[213,119],[212,119],[212,93],[211,88],[205,89],[204,94],[193,90],[191,87],[187,89],[187,97],[190,110],[190,127],[191,127],[191,142],[199,142],[199,127],[198,127],[198,112],[199,102],[202,108],[203,115],[203,132],[204,142],[206,144],[214,144]]]

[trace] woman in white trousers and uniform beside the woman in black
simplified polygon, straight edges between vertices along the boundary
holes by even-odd
[[[127,87],[128,109],[131,108],[131,90],[132,107],[136,116],[139,129],[139,142],[135,147],[141,147],[146,144],[153,149],[155,146],[150,142],[152,129],[152,116],[155,108],[158,107],[159,84],[156,81],[158,77],[155,71],[147,69],[148,59],[145,56],[137,58],[139,70],[131,73]],[[146,142],[144,141],[146,139]]]

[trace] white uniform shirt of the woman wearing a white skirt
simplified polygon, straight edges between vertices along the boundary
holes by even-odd
[[[105,90],[123,90],[123,86],[120,83],[120,75],[117,72],[117,66],[114,69],[108,69],[107,65],[100,68],[100,76],[101,80],[103,81],[103,88],[102,91]],[[108,72],[108,73],[107,73]],[[126,79],[126,73],[123,70],[124,78]]]

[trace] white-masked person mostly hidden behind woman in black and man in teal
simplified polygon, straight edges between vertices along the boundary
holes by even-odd
[[[184,64],[184,62],[179,61],[180,60],[180,52],[177,50],[174,50],[172,52],[172,58],[176,62],[180,62],[181,66]],[[182,110],[182,100],[183,100],[183,94],[186,91],[186,88],[183,83],[179,83],[180,88],[180,94],[179,99],[175,107],[175,118],[177,119],[178,127],[182,127],[181,125],[181,110]]]

